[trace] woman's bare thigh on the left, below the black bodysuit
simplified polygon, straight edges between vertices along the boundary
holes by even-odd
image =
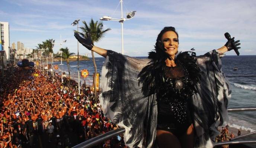
[[[171,132],[157,130],[156,139],[159,148],[181,148],[179,139]]]

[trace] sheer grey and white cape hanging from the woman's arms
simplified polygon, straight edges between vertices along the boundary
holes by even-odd
[[[221,70],[220,55],[210,51],[196,57],[201,81],[198,93],[192,95],[194,127],[198,148],[213,147],[217,127],[225,124],[227,104],[231,97],[229,83]],[[108,50],[102,67],[102,94],[99,100],[103,113],[113,123],[125,128],[124,141],[128,147],[157,147],[156,94],[142,91],[138,74],[150,59],[137,59]],[[211,140],[212,139],[212,140]]]

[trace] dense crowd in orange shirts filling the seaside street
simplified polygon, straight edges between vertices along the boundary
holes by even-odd
[[[0,77],[0,148],[69,148],[118,126],[103,115],[93,91],[36,68],[9,68]],[[98,92],[99,95],[100,92]],[[97,148],[125,148],[122,135]]]

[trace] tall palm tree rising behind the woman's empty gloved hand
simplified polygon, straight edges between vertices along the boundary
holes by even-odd
[[[103,23],[100,21],[93,21],[91,19],[89,26],[86,21],[83,21],[84,27],[79,27],[82,32],[78,32],[82,37],[87,38],[86,33],[90,33],[90,37],[92,38],[93,43],[99,41],[104,37],[107,31],[111,30],[111,28],[107,28],[103,30]],[[77,32],[77,31],[76,31]],[[97,74],[97,65],[95,63],[94,52],[92,51],[92,61],[95,69],[95,76],[93,77],[93,85],[94,85],[94,94],[95,100],[97,101],[97,91],[96,91],[96,74]]]

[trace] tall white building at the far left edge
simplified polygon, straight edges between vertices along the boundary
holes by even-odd
[[[0,41],[0,51],[6,51],[6,59],[10,59],[10,36],[9,36],[9,23],[0,21],[0,34],[1,34],[1,41]]]

